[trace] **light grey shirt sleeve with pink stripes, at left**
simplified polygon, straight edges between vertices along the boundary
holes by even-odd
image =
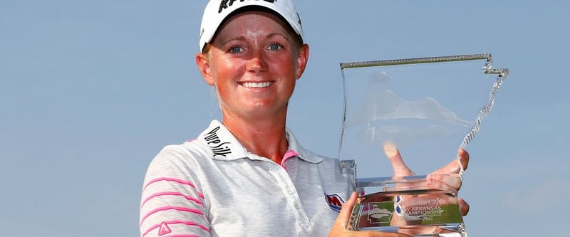
[[[204,194],[190,152],[165,147],[150,163],[142,188],[140,236],[210,236]]]

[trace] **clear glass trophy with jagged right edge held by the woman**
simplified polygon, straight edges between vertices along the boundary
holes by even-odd
[[[395,151],[418,174],[459,162],[458,149],[477,135],[509,74],[492,64],[490,54],[341,63],[339,157],[354,164],[361,194],[347,228],[467,236],[453,191],[431,189],[426,175],[378,175],[393,174],[387,157]]]

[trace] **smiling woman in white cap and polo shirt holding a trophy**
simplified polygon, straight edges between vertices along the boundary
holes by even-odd
[[[142,236],[403,236],[346,230],[357,197],[346,164],[304,149],[285,127],[309,59],[292,1],[209,1],[199,46],[196,63],[216,88],[222,122],[152,160]],[[467,167],[467,152],[460,154]],[[399,154],[392,160],[395,174],[411,174]],[[439,172],[458,170],[452,162]],[[437,174],[430,180],[454,191],[461,185]],[[344,202],[340,214],[331,196]]]

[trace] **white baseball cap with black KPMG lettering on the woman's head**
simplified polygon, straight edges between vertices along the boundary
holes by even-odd
[[[295,10],[293,0],[210,0],[204,9],[202,24],[200,26],[200,51],[204,49],[206,43],[212,41],[214,34],[222,22],[237,9],[245,6],[262,6],[274,11],[289,23],[295,33],[303,40],[303,28],[301,19]]]

